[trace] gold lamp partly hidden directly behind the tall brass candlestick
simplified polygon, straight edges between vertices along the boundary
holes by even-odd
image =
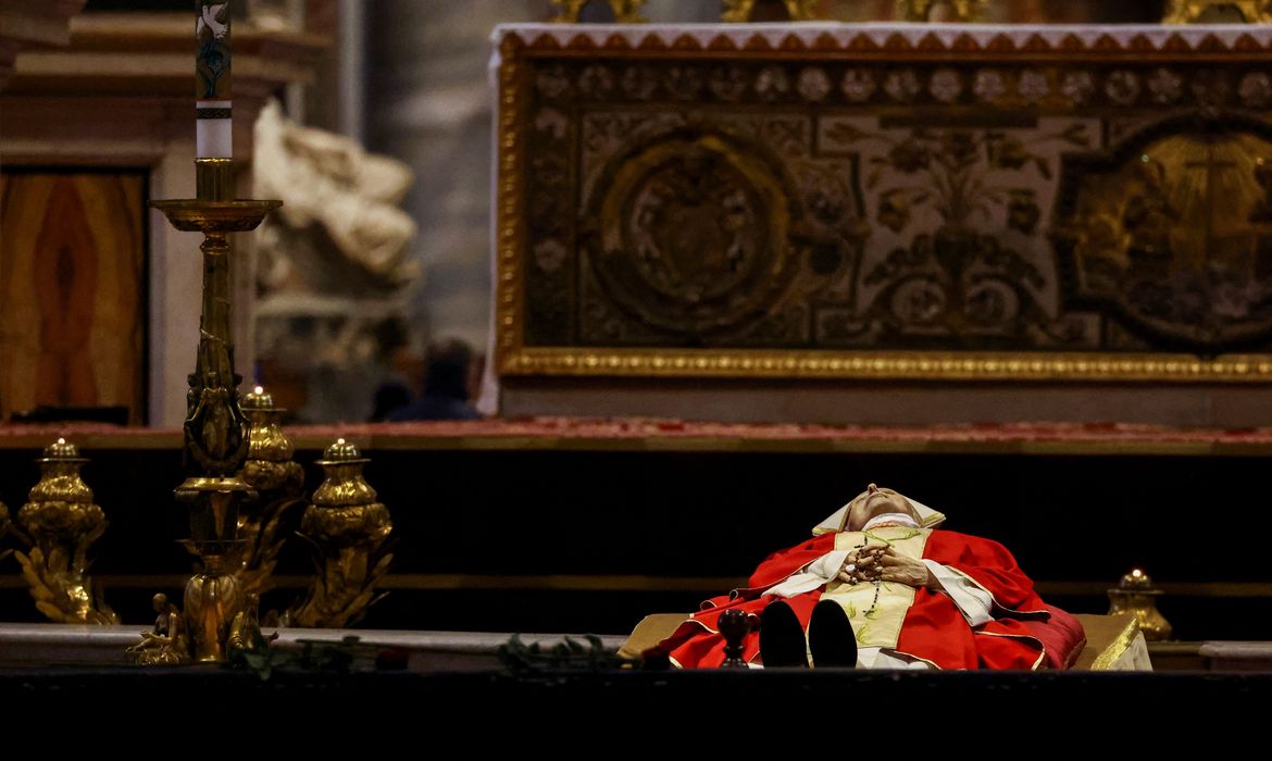
[[[282,518],[304,503],[305,473],[291,461],[295,445],[280,426],[286,410],[273,406],[273,396],[257,386],[243,394],[242,407],[249,422],[242,477],[259,498],[239,512],[243,560],[237,575],[244,596],[259,597],[273,588],[271,576],[285,538]]]

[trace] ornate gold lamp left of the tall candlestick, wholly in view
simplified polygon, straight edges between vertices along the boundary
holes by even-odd
[[[14,554],[36,608],[59,624],[118,624],[88,576],[88,550],[107,527],[106,513],[93,504],[93,490],[80,478],[88,461],[75,444],[57,439],[36,462],[39,482],[18,510],[22,531],[17,532],[31,551]]]

